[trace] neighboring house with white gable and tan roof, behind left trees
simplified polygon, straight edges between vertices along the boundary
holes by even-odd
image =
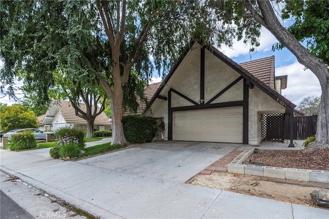
[[[80,108],[84,111],[85,104],[80,104]],[[63,126],[80,126],[87,129],[87,122],[76,116],[75,109],[68,101],[52,101],[46,114],[41,115],[39,118],[39,126],[41,130],[56,130]],[[95,118],[95,130],[112,130],[112,122],[104,112]]]

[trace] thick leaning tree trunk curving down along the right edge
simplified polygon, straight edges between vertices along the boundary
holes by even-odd
[[[320,58],[308,52],[295,36],[281,25],[269,1],[257,1],[257,4],[261,14],[252,8],[250,1],[245,1],[245,8],[256,21],[268,29],[283,46],[297,57],[300,64],[310,69],[319,79],[322,95],[316,141],[321,144],[329,144],[329,69]]]

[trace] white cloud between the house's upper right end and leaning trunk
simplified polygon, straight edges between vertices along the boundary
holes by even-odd
[[[297,61],[277,68],[276,76],[279,75],[288,75],[287,88],[282,90],[282,95],[296,105],[306,96],[321,95],[318,78],[309,69],[304,70],[304,66]]]

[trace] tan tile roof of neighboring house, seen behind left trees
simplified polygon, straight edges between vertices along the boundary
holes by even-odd
[[[75,109],[71,106],[71,103],[68,101],[53,101],[53,103],[56,105],[56,108],[58,109],[59,113],[63,116],[66,123],[70,124],[86,124],[87,122],[80,118],[79,116],[76,116]],[[86,105],[80,104],[80,109],[82,111],[86,112]],[[94,105],[92,106],[92,110],[94,110]],[[99,109],[98,109],[99,111]],[[99,114],[95,118],[95,125],[111,125],[111,122],[108,120],[108,117],[105,115],[104,112]]]

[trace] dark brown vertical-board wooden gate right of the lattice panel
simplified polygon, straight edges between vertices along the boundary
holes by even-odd
[[[318,115],[298,116],[294,117],[294,140],[305,140],[310,136],[314,136],[317,132]],[[285,139],[289,138],[289,121],[286,116],[285,120]]]

